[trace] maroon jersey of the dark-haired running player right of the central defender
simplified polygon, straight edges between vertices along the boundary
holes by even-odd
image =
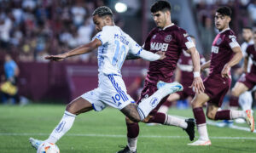
[[[224,65],[233,57],[232,48],[236,47],[239,47],[239,44],[236,42],[234,31],[226,29],[218,33],[212,42],[210,75],[221,74]]]

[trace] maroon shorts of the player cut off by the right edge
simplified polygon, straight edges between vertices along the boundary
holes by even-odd
[[[256,85],[256,74],[254,73],[247,73],[246,75],[243,74],[239,78],[238,82],[243,83],[244,85],[247,86],[247,88],[249,88],[249,90],[251,90]]]

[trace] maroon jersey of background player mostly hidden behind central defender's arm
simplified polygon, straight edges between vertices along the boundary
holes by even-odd
[[[200,63],[201,65],[206,63],[206,59],[203,57],[203,55],[200,55]],[[193,63],[190,54],[183,50],[183,53],[180,55],[180,58],[177,61],[177,66],[181,71],[180,83],[183,86],[191,86],[194,80],[194,74]]]

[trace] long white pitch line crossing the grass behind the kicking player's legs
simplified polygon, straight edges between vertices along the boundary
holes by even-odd
[[[0,136],[48,136],[49,133],[0,133]],[[68,133],[70,137],[108,137],[108,138],[126,138],[126,135],[116,134],[96,134],[96,133]],[[185,136],[162,136],[162,135],[141,135],[140,138],[156,138],[156,139],[187,139]],[[253,139],[253,137],[210,137],[210,139]]]

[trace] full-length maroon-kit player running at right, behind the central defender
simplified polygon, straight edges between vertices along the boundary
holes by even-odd
[[[236,118],[247,119],[252,127],[252,111],[218,111],[222,105],[224,95],[230,89],[230,68],[236,65],[242,58],[241,48],[236,42],[235,33],[230,30],[229,23],[231,10],[228,7],[218,8],[215,14],[215,26],[219,33],[212,42],[211,59],[201,70],[210,67],[210,74],[204,80],[205,92],[195,94],[192,100],[192,108],[195,122],[198,128],[199,139],[189,145],[211,145],[207,133],[206,116],[202,106],[207,103],[207,117],[212,120],[230,120]],[[253,129],[252,129],[253,132]]]

